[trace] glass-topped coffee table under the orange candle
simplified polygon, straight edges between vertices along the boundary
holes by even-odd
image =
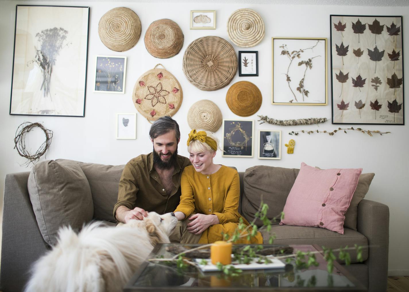
[[[183,249],[198,246],[159,244],[148,258],[171,258]],[[266,251],[283,248],[290,251],[293,249],[293,253],[298,250],[303,252],[321,250],[316,245],[284,247],[263,245],[263,250]],[[222,272],[201,272],[190,265],[180,269],[175,263],[146,261],[125,285],[124,291],[366,291],[366,288],[339,263],[334,262],[333,272],[329,274],[323,255],[317,253],[315,257],[319,263],[317,267],[299,270],[287,264],[282,270],[243,270],[238,276],[227,276]]]

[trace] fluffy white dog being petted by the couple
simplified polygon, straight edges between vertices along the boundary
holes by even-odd
[[[122,291],[157,243],[169,243],[178,219],[173,213],[149,212],[144,220],[118,227],[95,222],[79,234],[71,227],[58,231],[58,244],[32,267],[25,291]]]

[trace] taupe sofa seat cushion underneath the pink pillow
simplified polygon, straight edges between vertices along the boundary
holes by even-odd
[[[262,229],[260,232],[263,235],[263,244],[268,244],[270,233],[266,229]],[[276,236],[274,244],[279,245],[303,244],[339,249],[340,247],[346,247],[346,245],[354,247],[357,244],[363,247],[363,260],[365,261],[368,258],[368,239],[358,231],[349,228],[345,228],[342,235],[324,228],[274,225],[271,228],[271,234]],[[334,254],[338,255],[338,252],[334,252]],[[351,263],[357,263],[356,249],[351,249],[349,254],[351,256]],[[344,263],[343,261],[337,261]]]

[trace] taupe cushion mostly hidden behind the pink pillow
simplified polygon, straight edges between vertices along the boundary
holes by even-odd
[[[318,166],[315,167],[321,169]],[[357,230],[358,204],[365,198],[366,193],[368,193],[374,176],[375,173],[361,173],[357,188],[352,196],[351,204],[349,204],[348,210],[344,215],[344,227]]]

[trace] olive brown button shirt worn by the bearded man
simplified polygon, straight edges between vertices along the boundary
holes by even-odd
[[[118,202],[114,206],[114,218],[116,219],[115,213],[119,206],[129,209],[139,207],[158,214],[173,212],[180,202],[180,177],[183,169],[188,165],[191,165],[189,158],[177,156],[172,174],[173,189],[168,195],[153,167],[153,153],[142,154],[131,159],[125,165],[121,180],[119,180]]]

